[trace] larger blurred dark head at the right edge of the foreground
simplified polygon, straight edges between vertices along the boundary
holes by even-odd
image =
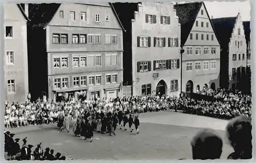
[[[226,134],[230,145],[234,149],[228,159],[252,158],[251,119],[248,116],[242,115],[230,120],[226,127]]]

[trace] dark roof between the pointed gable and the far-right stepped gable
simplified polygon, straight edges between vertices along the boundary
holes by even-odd
[[[227,48],[237,17],[211,19],[222,48]]]

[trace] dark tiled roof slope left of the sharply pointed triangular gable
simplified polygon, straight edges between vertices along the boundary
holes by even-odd
[[[203,2],[174,5],[181,24],[181,45],[186,42],[202,5]]]

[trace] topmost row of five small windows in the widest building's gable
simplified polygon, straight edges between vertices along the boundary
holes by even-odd
[[[63,10],[59,11],[59,17],[64,18],[64,11]],[[69,12],[69,19],[70,20],[76,20],[76,12],[75,11],[70,11]],[[80,12],[80,20],[81,21],[87,21],[87,13],[86,12]],[[94,21],[95,22],[100,22],[100,13],[95,13],[94,14]],[[105,15],[105,21],[110,21],[110,14]]]

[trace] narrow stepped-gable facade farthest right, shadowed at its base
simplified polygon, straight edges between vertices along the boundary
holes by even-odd
[[[247,44],[243,27],[242,16],[237,15],[236,22],[229,41],[229,88],[239,88],[239,82],[245,76],[247,65]]]

